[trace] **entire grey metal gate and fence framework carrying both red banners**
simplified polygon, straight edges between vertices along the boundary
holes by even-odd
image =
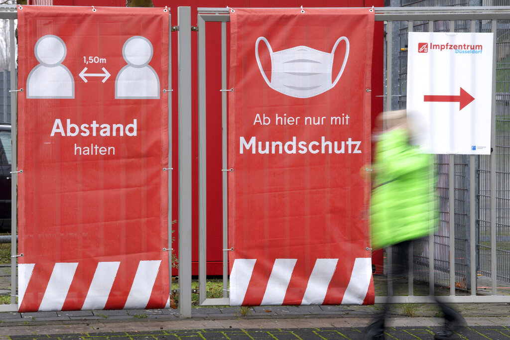
[[[492,32],[496,31],[497,25],[496,20],[498,19],[508,19],[510,15],[510,7],[421,7],[421,8],[375,8],[375,20],[376,21],[386,21],[388,24],[391,24],[393,21],[409,21],[411,24],[409,27],[413,27],[413,20],[419,21],[436,21],[436,20],[448,20],[450,22],[454,22],[454,20],[472,20],[471,21],[471,32],[474,32],[474,20],[492,20],[491,28]],[[198,111],[199,111],[199,293],[200,293],[200,305],[225,305],[228,304],[230,299],[227,294],[228,287],[228,240],[227,240],[227,176],[230,173],[230,169],[228,169],[226,163],[226,113],[227,113],[227,97],[228,91],[220,92],[222,96],[222,127],[223,127],[223,135],[222,135],[222,169],[218,169],[218,171],[223,171],[223,289],[224,294],[223,298],[219,299],[207,299],[206,291],[205,291],[205,282],[206,282],[206,233],[207,233],[207,223],[206,223],[206,123],[207,123],[207,105],[206,105],[206,22],[220,22],[221,23],[221,51],[222,51],[222,89],[226,89],[226,55],[227,55],[227,46],[226,46],[226,22],[230,21],[230,15],[228,14],[228,9],[226,8],[199,8],[198,9]],[[0,18],[9,19],[10,20],[10,30],[11,30],[11,60],[15,59],[15,45],[14,45],[14,19],[16,19],[16,6],[2,6],[0,7]],[[192,201],[191,201],[191,172],[192,172],[192,163],[191,163],[191,9],[190,7],[179,7],[178,9],[178,20],[179,20],[179,50],[178,58],[179,58],[179,286],[180,286],[180,317],[181,318],[189,318],[191,317],[191,222],[192,222]],[[429,30],[433,30],[433,25],[429,25]],[[453,24],[450,24],[450,30],[453,29]],[[170,39],[170,37],[169,37]],[[496,42],[496,37],[494,38]],[[387,32],[387,74],[392,74],[392,30],[389,29]],[[496,48],[496,44],[494,44],[494,48]],[[171,59],[171,50],[169,46],[169,59]],[[494,62],[496,63],[496,53],[494,53]],[[170,61],[169,61],[170,64]],[[15,74],[14,63],[11,63],[11,74]],[[493,70],[494,79],[496,79],[496,69]],[[386,110],[391,110],[391,98],[392,98],[392,77],[388,76],[386,88],[387,93],[385,94],[386,98]],[[169,71],[169,84],[171,84],[171,74]],[[16,89],[16,77],[11,77],[11,89]],[[220,89],[210,89],[212,91],[218,91]],[[219,92],[219,91],[218,91]],[[495,86],[493,85],[493,98],[492,98],[492,137],[491,137],[491,146],[495,149],[496,147],[496,136],[495,136],[495,125],[496,125],[496,93]],[[16,94],[17,92],[13,92]],[[16,100],[17,96],[11,96],[11,117],[12,117],[12,139],[16,140]],[[169,143],[171,142],[171,96],[168,98],[169,103]],[[13,143],[13,163],[12,169],[17,170],[16,165],[16,143]],[[171,169],[171,145],[169,146],[168,151],[169,156],[169,169]],[[474,155],[470,155],[469,157],[469,192],[470,192],[470,207],[469,207],[469,225],[470,225],[470,282],[472,285],[476,287],[476,261],[474,260],[474,254],[476,253],[476,242],[475,242],[475,232],[477,225],[477,211],[474,202],[476,201],[477,195],[477,184],[476,184],[476,158]],[[496,249],[496,155],[493,152],[490,156],[491,163],[491,197],[490,197],[490,205],[491,205],[491,248],[494,251],[491,252],[491,271],[492,273],[497,273],[497,253]],[[454,196],[454,166],[455,166],[455,156],[449,156],[449,169],[451,171],[448,172],[449,176],[449,184],[452,188],[449,190],[448,201],[450,206],[449,211],[449,230],[450,235],[454,235],[454,206],[455,206],[455,196]],[[226,170],[226,171],[225,171]],[[17,201],[17,174],[13,173],[12,176],[12,201]],[[169,221],[168,221],[168,246],[171,250],[172,242],[171,242],[171,179],[169,179],[168,183],[168,209],[169,209]],[[16,234],[16,204],[13,204],[12,211],[12,228],[13,235]],[[454,237],[451,238],[452,242],[450,244],[449,254],[450,258],[455,257],[455,240]],[[434,236],[431,234],[428,238],[428,252],[430,255],[434,254]],[[170,270],[170,287],[171,287],[171,251],[169,254],[169,270]],[[12,256],[16,256],[16,243],[12,244]],[[10,305],[0,305],[0,311],[15,311],[17,310],[17,305],[15,304],[15,294],[16,294],[16,257],[13,257],[13,261],[11,263],[11,271],[12,271],[12,288],[11,288],[11,304]],[[391,259],[391,251],[388,251],[388,259]],[[412,266],[415,266],[415,263],[411,263]],[[428,256],[428,265],[429,268],[434,268],[434,257]],[[413,277],[414,273],[411,271],[410,280],[408,285],[409,293],[407,296],[395,297],[392,302],[402,303],[402,302],[429,302],[431,296],[433,295],[433,285],[430,285],[429,296],[414,296],[413,294]],[[436,282],[435,273],[433,270],[429,270],[428,273],[429,282]],[[456,296],[454,285],[450,285],[450,295],[444,297],[444,300],[447,302],[510,302],[510,296],[501,296],[497,295],[497,275],[492,275],[492,295],[490,296],[476,296],[476,289],[471,289],[471,295],[467,296]],[[455,263],[454,261],[450,261],[449,263],[449,281],[455,282]],[[391,293],[392,286],[389,284],[389,292]],[[376,303],[385,301],[385,297],[376,297]]]

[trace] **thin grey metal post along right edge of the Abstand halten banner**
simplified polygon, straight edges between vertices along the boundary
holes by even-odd
[[[168,89],[172,88],[172,16],[168,10]],[[172,294],[172,91],[168,94],[168,282]]]

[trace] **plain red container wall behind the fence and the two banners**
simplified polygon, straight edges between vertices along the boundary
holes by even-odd
[[[382,7],[383,0],[153,0],[156,7],[168,6],[171,25],[177,25],[177,7],[191,7],[191,22],[196,24],[197,8],[213,7]],[[125,0],[53,0],[55,6],[112,6],[124,7]],[[382,111],[383,94],[383,23],[375,23],[374,46],[372,60],[372,123],[376,115]],[[227,24],[228,30],[228,24]],[[207,23],[207,273],[222,274],[222,172],[221,170],[221,40],[220,24]],[[197,74],[197,35],[192,34],[191,55],[192,74],[192,274],[198,275],[198,74]],[[227,46],[230,41],[227,38]],[[172,167],[177,169],[177,34],[171,34],[171,74],[172,74]],[[227,47],[228,50],[228,47]],[[227,60],[228,65],[228,60]],[[227,66],[228,68],[228,66]],[[172,220],[177,220],[174,229],[179,228],[178,192],[179,179],[177,171],[172,176]],[[178,231],[173,233],[177,240]],[[178,253],[177,242],[172,245],[174,253]],[[340,251],[340,249],[339,249]],[[381,271],[382,256],[373,257],[372,262]],[[173,271],[177,275],[177,270]]]

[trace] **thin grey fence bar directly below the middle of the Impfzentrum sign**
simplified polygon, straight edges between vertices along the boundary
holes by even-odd
[[[450,20],[450,32],[455,32],[455,21]],[[451,121],[451,119],[450,119]],[[450,295],[455,295],[455,155],[448,155],[448,228],[450,246]]]

